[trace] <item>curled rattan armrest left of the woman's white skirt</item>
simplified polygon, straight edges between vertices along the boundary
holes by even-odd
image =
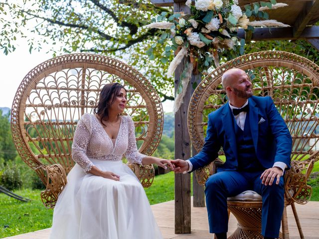
[[[67,183],[66,173],[60,164],[49,166],[42,165],[41,169],[46,172],[46,189],[41,192],[41,201],[46,208],[54,208],[59,194]]]

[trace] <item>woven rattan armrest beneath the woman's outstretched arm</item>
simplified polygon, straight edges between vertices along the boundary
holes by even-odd
[[[148,188],[152,185],[155,177],[155,169],[153,164],[141,165],[138,163],[127,163],[127,165],[132,169],[134,174],[138,177],[142,186]]]

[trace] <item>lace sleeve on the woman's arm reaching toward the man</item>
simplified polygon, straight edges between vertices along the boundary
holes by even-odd
[[[133,119],[131,117],[128,117],[127,120],[129,125],[129,144],[125,156],[131,163],[142,164],[142,159],[146,157],[146,155],[140,153],[138,151],[138,147],[136,146],[135,126]]]

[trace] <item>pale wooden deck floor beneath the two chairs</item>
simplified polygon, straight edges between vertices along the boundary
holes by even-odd
[[[319,239],[319,202],[296,205],[296,208],[305,239]],[[152,210],[164,239],[212,239],[208,232],[206,208],[191,208],[191,234],[174,234],[174,201],[152,205]],[[291,207],[288,207],[287,211],[290,239],[300,239]],[[236,225],[236,219],[231,215],[229,235],[236,229]],[[48,239],[49,234],[50,229],[45,229],[6,239]]]

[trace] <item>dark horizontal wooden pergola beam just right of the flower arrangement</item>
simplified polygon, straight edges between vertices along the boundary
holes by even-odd
[[[245,30],[239,29],[237,36],[245,38]],[[298,40],[319,38],[319,26],[307,26],[299,37],[294,36],[293,27],[255,27],[252,34],[252,41],[266,40]]]

